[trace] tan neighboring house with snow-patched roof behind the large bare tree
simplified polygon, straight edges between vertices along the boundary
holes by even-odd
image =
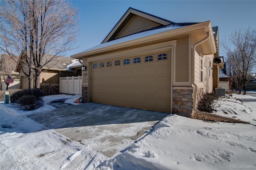
[[[20,57],[24,58],[22,53]],[[52,55],[45,54],[43,63],[49,58],[52,58]],[[56,56],[45,65],[40,74],[40,89],[46,95],[59,94],[59,77],[81,76],[81,66],[79,59]],[[24,70],[28,71],[28,66],[24,65]],[[20,89],[28,89],[28,77],[21,69],[18,69],[18,71],[20,72]]]

